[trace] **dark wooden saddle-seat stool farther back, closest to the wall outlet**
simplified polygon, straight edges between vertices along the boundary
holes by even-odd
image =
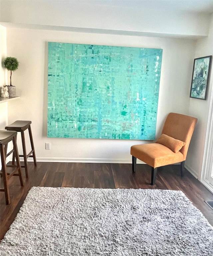
[[[36,166],[36,155],[35,155],[35,149],[33,145],[33,136],[31,132],[30,124],[31,121],[23,121],[23,120],[17,120],[14,123],[11,123],[10,125],[7,125],[5,127],[8,131],[16,131],[21,133],[21,140],[22,140],[22,148],[23,148],[23,155],[19,155],[19,157],[24,157],[24,165],[21,167],[25,168],[25,175],[26,178],[28,178],[28,167],[27,167],[27,159],[28,157],[33,157],[34,165]],[[27,154],[26,152],[26,144],[25,144],[25,138],[24,138],[24,131],[28,129],[29,136],[30,136],[30,144],[31,144],[31,151]],[[13,156],[13,164],[14,164],[14,156]]]

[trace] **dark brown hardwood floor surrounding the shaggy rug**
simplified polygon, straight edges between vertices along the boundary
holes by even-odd
[[[134,188],[134,189],[169,189],[182,190],[193,204],[213,225],[213,210],[204,200],[213,200],[210,193],[188,171],[180,177],[178,165],[158,168],[156,184],[150,185],[151,168],[137,165],[132,173],[131,164],[88,164],[88,163],[28,163],[29,179],[24,177],[24,187],[20,186],[19,178],[13,176],[9,180],[11,204],[5,204],[4,192],[0,193],[0,227],[2,239],[15,219],[28,191],[33,186],[44,187],[80,187],[80,188]],[[2,187],[1,178],[1,187]]]

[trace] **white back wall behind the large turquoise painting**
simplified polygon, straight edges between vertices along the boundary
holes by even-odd
[[[20,100],[8,105],[8,122],[32,120],[38,161],[130,163],[130,146],[146,143],[47,138],[48,41],[162,48],[157,136],[169,112],[188,114],[195,52],[193,40],[7,28],[7,54],[17,57],[20,62],[13,73],[13,83],[17,86],[17,95],[21,96]],[[51,150],[45,150],[45,142],[51,143]]]

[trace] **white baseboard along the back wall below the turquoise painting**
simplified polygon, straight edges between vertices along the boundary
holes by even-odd
[[[131,164],[131,159],[101,159],[101,158],[43,158],[37,157],[37,162],[49,162],[49,163],[105,163],[105,164]],[[24,159],[20,157],[20,161]],[[33,162],[33,158],[28,158],[28,162]],[[137,164],[145,164],[137,159]]]

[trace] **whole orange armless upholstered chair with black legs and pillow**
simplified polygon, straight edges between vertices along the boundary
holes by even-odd
[[[155,143],[131,147],[132,171],[135,172],[136,159],[152,167],[151,184],[155,184],[157,167],[180,164],[181,176],[184,175],[184,162],[197,118],[178,113],[169,113],[162,134]]]

